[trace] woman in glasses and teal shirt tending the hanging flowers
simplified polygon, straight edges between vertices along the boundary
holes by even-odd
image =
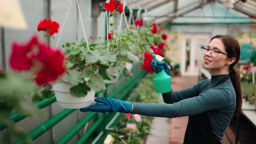
[[[202,47],[203,67],[211,70],[211,79],[202,80],[193,87],[178,92],[163,93],[166,104],[143,104],[113,98],[97,98],[98,105],[81,111],[137,113],[154,117],[189,116],[184,143],[221,143],[233,114],[241,112],[240,80],[234,65],[240,58],[240,46],[228,35],[214,36]],[[165,62],[152,62],[156,73]],[[159,66],[161,65],[161,66]]]

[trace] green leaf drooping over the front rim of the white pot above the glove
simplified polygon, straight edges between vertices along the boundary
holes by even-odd
[[[70,94],[73,97],[84,97],[85,95],[87,95],[87,92],[90,91],[91,88],[89,88],[88,86],[86,86],[86,82],[84,83],[79,83],[79,85],[77,86],[73,86],[71,87],[70,90]]]

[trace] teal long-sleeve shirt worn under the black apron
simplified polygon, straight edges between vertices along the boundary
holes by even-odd
[[[236,109],[236,93],[231,80],[228,79],[214,87],[227,75],[229,74],[212,76],[211,79],[202,80],[193,87],[163,93],[166,104],[133,103],[132,113],[173,118],[207,111],[213,134],[220,141]]]

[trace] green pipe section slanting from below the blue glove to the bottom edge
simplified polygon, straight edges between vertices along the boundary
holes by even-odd
[[[86,117],[82,119],[77,125],[75,125],[68,133],[62,137],[59,141],[56,143],[67,143],[69,140],[71,140],[75,134],[78,133],[80,129],[84,127],[84,125],[91,120],[94,116],[96,116],[96,112],[90,112]]]

